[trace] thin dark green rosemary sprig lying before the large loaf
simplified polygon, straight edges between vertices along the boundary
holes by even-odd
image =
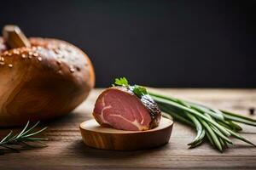
[[[33,136],[38,133],[42,133],[47,127],[44,127],[38,131],[35,131],[35,127],[37,127],[39,122],[34,124],[32,127],[29,127],[29,121],[26,122],[26,126],[20,131],[20,133],[14,134],[13,131],[10,131],[1,141],[0,141],[0,151],[12,150],[15,152],[19,152],[20,150],[45,147],[46,144],[41,141],[48,140],[46,138],[35,138]],[[31,143],[38,143],[39,145],[34,145]]]

